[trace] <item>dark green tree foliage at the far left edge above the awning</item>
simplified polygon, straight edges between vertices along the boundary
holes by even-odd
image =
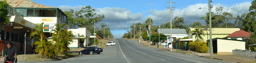
[[[8,9],[7,7],[9,4],[6,0],[0,1],[0,24],[3,25],[4,23],[9,23],[10,20],[8,19]]]

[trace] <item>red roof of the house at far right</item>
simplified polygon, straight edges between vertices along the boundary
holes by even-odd
[[[231,33],[230,35],[224,38],[228,38],[228,37],[250,37],[250,33],[243,30],[239,30]]]

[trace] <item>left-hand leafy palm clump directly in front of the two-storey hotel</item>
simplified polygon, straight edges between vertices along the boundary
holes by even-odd
[[[34,28],[34,30],[32,30],[32,32],[30,33],[30,38],[33,37],[33,40],[38,40],[32,43],[32,46],[37,45],[35,53],[40,54],[41,57],[43,58],[53,58],[54,56],[56,56],[55,54],[55,47],[53,46],[52,42],[47,40],[47,38],[45,37],[45,34],[43,33],[43,22],[40,23],[36,23],[36,27]]]

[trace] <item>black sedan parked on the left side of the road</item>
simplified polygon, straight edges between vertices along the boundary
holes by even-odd
[[[79,54],[80,55],[83,55],[83,54],[93,54],[93,53],[101,53],[103,52],[103,49],[102,48],[99,48],[97,46],[92,46],[92,47],[85,47],[83,50],[79,51]]]

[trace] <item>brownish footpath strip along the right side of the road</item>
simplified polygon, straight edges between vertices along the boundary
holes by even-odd
[[[141,44],[144,44],[144,46],[149,46],[149,43],[146,41],[141,41]],[[150,47],[157,48],[156,45],[151,45]],[[168,50],[170,51],[171,48],[166,48],[163,46],[159,46],[158,49]],[[185,50],[178,50],[172,49],[173,52],[179,52],[184,54],[190,54],[200,57],[205,57],[210,59],[210,53],[198,53],[193,51],[185,51]],[[228,62],[234,62],[234,63],[256,63],[256,57],[247,57],[247,56],[233,56],[233,55],[218,55],[213,54],[213,59],[218,59],[222,61],[228,61]]]

